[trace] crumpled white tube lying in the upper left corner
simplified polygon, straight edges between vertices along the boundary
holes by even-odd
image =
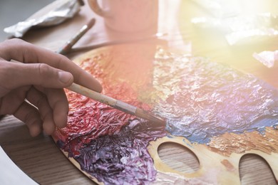
[[[56,3],[58,6],[55,6],[55,8],[46,12],[46,14],[16,23],[13,26],[4,28],[4,31],[11,33],[15,37],[22,37],[33,26],[53,26],[66,21],[68,18],[72,18],[80,11],[81,7],[78,0],[58,0]]]

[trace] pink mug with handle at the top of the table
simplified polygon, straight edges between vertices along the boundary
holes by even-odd
[[[88,0],[91,9],[115,31],[138,32],[156,28],[158,0]]]

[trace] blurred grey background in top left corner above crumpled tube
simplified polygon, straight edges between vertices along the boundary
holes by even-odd
[[[0,0],[0,42],[10,36],[3,30],[42,9],[54,0]]]

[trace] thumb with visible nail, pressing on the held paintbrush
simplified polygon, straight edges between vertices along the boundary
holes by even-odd
[[[11,90],[22,85],[41,85],[44,88],[66,88],[73,83],[73,75],[53,68],[45,63],[12,63],[7,62],[6,70],[1,70],[1,83]],[[4,81],[3,81],[4,80]],[[7,83],[8,82],[8,83]]]

